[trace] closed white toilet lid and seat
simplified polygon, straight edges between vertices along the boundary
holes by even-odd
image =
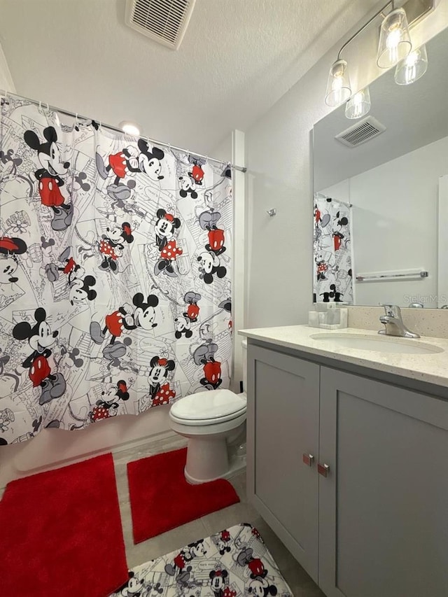
[[[230,390],[213,390],[190,394],[174,402],[169,418],[181,425],[218,425],[246,413],[246,396]]]

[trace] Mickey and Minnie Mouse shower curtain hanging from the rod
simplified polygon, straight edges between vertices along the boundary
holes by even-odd
[[[230,167],[1,104],[0,444],[227,388]]]

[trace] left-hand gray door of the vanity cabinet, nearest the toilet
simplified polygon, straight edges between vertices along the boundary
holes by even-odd
[[[319,367],[249,343],[247,389],[248,496],[317,581]]]

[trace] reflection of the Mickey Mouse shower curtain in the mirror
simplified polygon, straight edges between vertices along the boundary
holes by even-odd
[[[353,304],[351,209],[314,193],[314,302]]]

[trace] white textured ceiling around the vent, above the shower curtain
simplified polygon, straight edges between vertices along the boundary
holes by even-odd
[[[207,154],[376,3],[197,0],[174,51],[125,26],[124,0],[0,0],[0,41],[19,94]]]

